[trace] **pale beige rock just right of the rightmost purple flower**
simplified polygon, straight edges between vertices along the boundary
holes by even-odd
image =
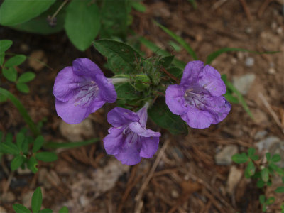
[[[236,89],[241,92],[241,94],[247,94],[249,92],[249,89],[251,88],[251,84],[256,79],[256,75],[253,73],[242,75],[241,77],[234,77],[233,78],[233,84]]]

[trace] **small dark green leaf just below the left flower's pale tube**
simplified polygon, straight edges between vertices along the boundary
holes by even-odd
[[[115,84],[117,98],[119,99],[136,99],[140,92],[136,91],[130,83]]]

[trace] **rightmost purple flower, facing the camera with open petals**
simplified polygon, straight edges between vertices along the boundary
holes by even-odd
[[[179,85],[168,86],[165,102],[189,126],[204,129],[229,114],[231,104],[222,96],[225,93],[219,72],[197,60],[186,65]]]

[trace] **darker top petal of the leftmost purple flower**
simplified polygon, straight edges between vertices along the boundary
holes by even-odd
[[[104,75],[102,70],[89,60],[89,58],[77,58],[73,61],[73,71],[75,75],[85,77],[89,80],[94,80],[97,74]]]

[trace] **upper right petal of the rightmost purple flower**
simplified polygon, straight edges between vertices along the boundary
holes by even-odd
[[[221,75],[217,70],[209,65],[206,65],[202,73],[200,73],[198,84],[200,84],[203,89],[206,89],[207,92],[214,97],[218,97],[226,93],[226,85],[221,79]]]

